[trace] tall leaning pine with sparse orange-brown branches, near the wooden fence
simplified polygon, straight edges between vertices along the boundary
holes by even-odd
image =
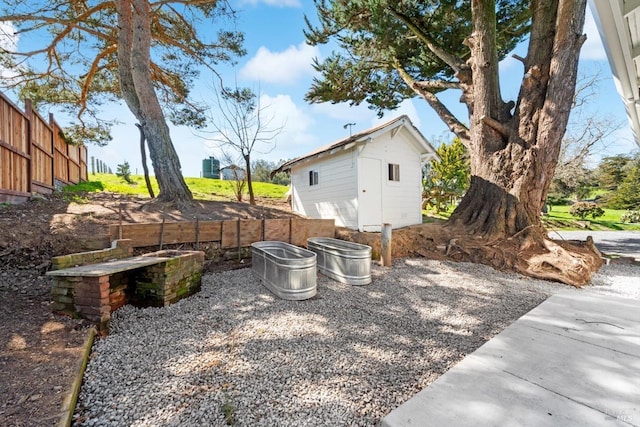
[[[220,61],[244,53],[238,32],[202,37],[203,20],[234,18],[226,1],[6,0],[0,13],[0,22],[17,28],[20,46],[37,46],[4,51],[17,71],[5,88],[75,114],[67,134],[78,141],[107,141],[113,121],[100,106],[124,99],[149,144],[158,198],[192,199],[166,117],[203,126],[203,108],[189,98],[197,65],[215,72]]]

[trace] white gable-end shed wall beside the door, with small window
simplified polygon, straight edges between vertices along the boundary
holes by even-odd
[[[366,144],[360,157],[382,160],[382,222],[400,228],[422,223],[422,165],[409,132],[400,128],[392,135],[387,132]],[[389,181],[389,163],[400,165],[400,181]],[[360,224],[367,224],[362,218],[367,213],[360,214]]]

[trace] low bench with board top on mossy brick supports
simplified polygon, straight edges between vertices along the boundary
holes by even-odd
[[[99,252],[65,257],[84,263],[103,258]],[[54,265],[64,265],[60,258]],[[203,264],[204,252],[165,250],[48,271],[52,310],[91,320],[108,334],[111,312],[125,304],[164,307],[198,292]]]

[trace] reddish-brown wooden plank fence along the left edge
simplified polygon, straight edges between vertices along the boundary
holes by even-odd
[[[0,93],[0,202],[21,202],[87,180],[87,148],[65,142],[53,115],[25,111]]]

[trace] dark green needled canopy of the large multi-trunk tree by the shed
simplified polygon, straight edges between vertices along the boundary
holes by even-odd
[[[463,141],[469,139],[465,118],[456,118],[436,94],[460,89],[459,73],[469,73],[470,1],[397,2],[315,0],[320,25],[307,19],[311,44],[333,40],[339,49],[315,68],[320,77],[310,102],[366,101],[379,115],[416,95],[424,98]],[[504,58],[529,32],[528,1],[496,2],[496,48]]]

